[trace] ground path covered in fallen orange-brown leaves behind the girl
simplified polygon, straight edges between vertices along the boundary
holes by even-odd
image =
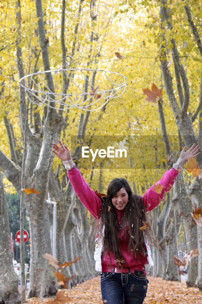
[[[194,304],[202,303],[202,292],[198,288],[187,288],[186,282],[165,281],[162,278],[147,277],[149,280],[144,304]],[[102,304],[100,277],[83,282],[67,290],[71,304]],[[51,299],[51,298],[49,298]],[[48,299],[30,298],[30,304],[45,304]]]

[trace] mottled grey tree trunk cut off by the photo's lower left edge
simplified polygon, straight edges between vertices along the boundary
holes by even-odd
[[[0,174],[0,304],[21,304],[18,292],[19,278],[12,264],[8,210]]]

